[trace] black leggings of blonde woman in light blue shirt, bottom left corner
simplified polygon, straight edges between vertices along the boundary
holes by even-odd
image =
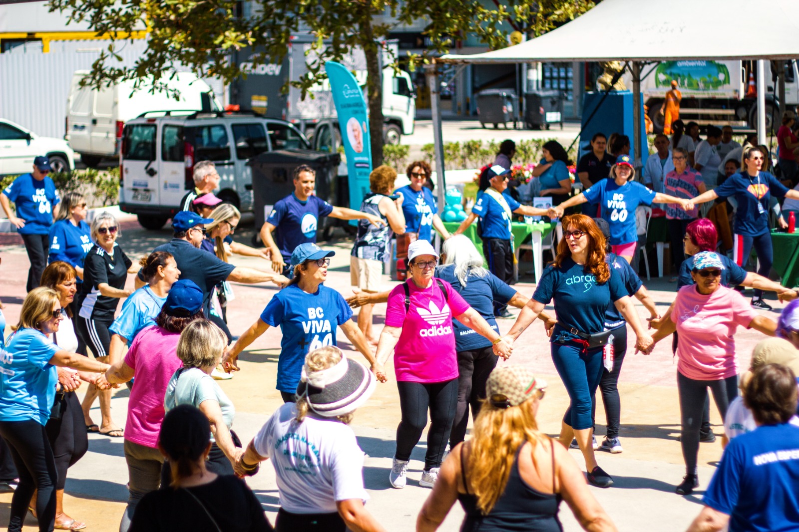
[[[19,486],[11,497],[9,532],[21,532],[34,490],[39,532],[52,532],[55,526],[55,469],[53,450],[45,427],[33,420],[0,421],[0,435],[6,440],[19,473]]]

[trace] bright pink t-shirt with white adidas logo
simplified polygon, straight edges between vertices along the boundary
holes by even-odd
[[[400,341],[394,348],[398,381],[443,383],[458,378],[452,316],[460,316],[471,307],[447,281],[441,281],[447,291],[444,297],[435,281],[434,278],[429,287],[422,289],[407,280],[411,292],[407,314],[403,285],[394,287],[388,295],[386,325],[402,328]]]

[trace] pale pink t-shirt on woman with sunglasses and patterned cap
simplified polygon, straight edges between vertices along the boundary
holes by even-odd
[[[757,317],[743,296],[721,286],[708,296],[696,285],[680,288],[671,320],[677,324],[677,371],[689,379],[720,380],[737,374],[735,329]]]

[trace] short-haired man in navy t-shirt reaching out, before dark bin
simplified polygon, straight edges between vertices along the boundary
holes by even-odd
[[[260,239],[272,255],[272,269],[290,276],[288,262],[294,249],[306,242],[316,244],[316,228],[324,216],[339,220],[358,220],[364,218],[376,225],[385,225],[378,216],[334,207],[313,193],[316,187],[316,171],[308,165],[300,165],[294,170],[294,192],[278,201],[264,226],[260,228]],[[275,236],[272,232],[277,231]]]

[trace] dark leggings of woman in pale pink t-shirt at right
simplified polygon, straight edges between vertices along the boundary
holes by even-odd
[[[686,462],[686,473],[696,474],[699,452],[699,427],[705,408],[707,389],[713,392],[721,419],[727,415],[727,407],[738,395],[738,377],[733,375],[720,380],[695,380],[677,372],[677,389],[680,394],[680,416],[682,418],[682,459]]]

